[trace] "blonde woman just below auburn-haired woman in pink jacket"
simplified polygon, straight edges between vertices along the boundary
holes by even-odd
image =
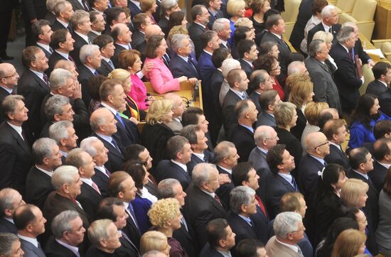
[[[125,101],[127,103],[126,110],[122,114],[126,115],[127,119],[133,121],[134,124],[139,124],[140,120],[145,119],[145,111],[140,111],[137,106],[136,101],[130,97],[129,93],[132,90],[132,79],[130,77],[130,72],[124,69],[115,69],[107,75],[109,79],[116,79],[122,83],[124,88],[124,93],[126,95]]]

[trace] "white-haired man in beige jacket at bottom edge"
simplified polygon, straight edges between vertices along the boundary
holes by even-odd
[[[304,238],[306,230],[301,215],[296,212],[282,212],[274,219],[274,234],[266,244],[268,256],[303,257],[297,243]]]

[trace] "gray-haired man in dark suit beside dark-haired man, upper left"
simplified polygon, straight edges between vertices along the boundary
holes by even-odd
[[[70,26],[74,31],[72,38],[75,43],[73,43],[73,50],[69,54],[75,60],[76,65],[79,66],[82,63],[80,62],[80,49],[83,45],[91,43],[90,38],[88,38],[88,33],[91,31],[90,13],[83,10],[75,11],[72,18],[70,18]]]

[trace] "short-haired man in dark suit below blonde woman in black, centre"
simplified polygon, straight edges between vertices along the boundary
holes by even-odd
[[[191,161],[191,145],[183,136],[173,136],[167,141],[166,153],[170,160],[161,160],[156,167],[154,177],[160,182],[166,178],[175,178],[186,190],[191,184],[191,175],[187,164]]]

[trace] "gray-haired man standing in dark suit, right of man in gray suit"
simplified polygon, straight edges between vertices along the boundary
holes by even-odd
[[[337,40],[338,44],[333,45],[329,54],[338,67],[334,74],[334,80],[341,99],[341,109],[344,114],[350,114],[360,98],[358,89],[364,84],[364,76],[358,72],[357,66],[353,62],[353,58],[355,58],[353,56],[354,29],[351,27],[341,28]]]

